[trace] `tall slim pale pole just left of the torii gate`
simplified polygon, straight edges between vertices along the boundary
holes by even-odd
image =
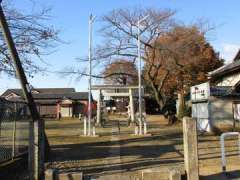
[[[89,61],[89,76],[88,76],[88,136],[91,136],[91,119],[92,119],[92,25],[95,16],[89,16],[89,47],[88,47],[88,61]],[[94,127],[95,128],[95,127]]]

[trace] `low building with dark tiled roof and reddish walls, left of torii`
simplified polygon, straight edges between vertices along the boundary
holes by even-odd
[[[74,88],[34,88],[31,91],[41,117],[78,117],[86,111],[88,92],[76,92]],[[24,101],[21,89],[8,89],[1,97]]]

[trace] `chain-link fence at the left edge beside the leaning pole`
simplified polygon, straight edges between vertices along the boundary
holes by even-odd
[[[25,103],[0,99],[0,163],[28,151],[28,112]]]

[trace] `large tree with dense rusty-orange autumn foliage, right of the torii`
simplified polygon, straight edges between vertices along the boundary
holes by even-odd
[[[187,94],[190,86],[206,81],[207,72],[223,64],[196,26],[176,26],[152,46],[146,52],[144,77],[161,107],[176,93]]]

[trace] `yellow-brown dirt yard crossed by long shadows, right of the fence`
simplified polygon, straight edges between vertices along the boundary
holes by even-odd
[[[97,128],[100,137],[95,138],[81,136],[83,128],[79,120],[47,121],[47,136],[52,147],[48,167],[82,171],[89,179],[183,163],[181,124],[167,126],[163,119],[151,117],[148,126],[153,136],[138,137],[131,135],[134,127],[127,127],[126,121],[121,120],[119,134],[117,120]],[[229,139],[226,146],[228,170],[239,170],[236,140]],[[221,173],[219,136],[199,137],[199,159],[201,179],[218,179]]]

